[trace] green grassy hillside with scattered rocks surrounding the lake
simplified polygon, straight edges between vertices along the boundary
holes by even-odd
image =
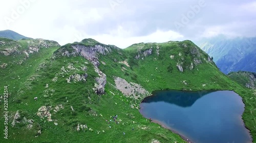
[[[26,50],[28,42],[18,43],[21,49]],[[98,45],[109,52],[100,50],[94,53]],[[74,46],[91,50],[78,53]],[[65,52],[69,56],[65,56]],[[104,95],[95,93],[95,79],[100,75],[96,73],[95,65],[90,61],[92,59],[84,58],[88,54],[97,57],[98,68],[106,75]],[[5,142],[185,142],[179,135],[143,118],[138,107],[145,95],[138,100],[133,96],[124,96],[115,88],[115,77],[138,83],[148,92],[165,89],[234,90],[243,97],[246,105],[243,115],[245,125],[251,130],[253,138],[256,136],[253,91],[241,87],[221,73],[208,60],[208,55],[191,41],[140,43],[119,49],[86,39],[60,48],[40,48],[21,65],[10,62],[24,56],[0,56],[0,61],[9,61],[0,70],[1,77],[4,77],[0,90],[3,92],[4,86],[8,85],[10,94],[9,139]],[[182,66],[183,72],[177,65]],[[86,81],[79,81],[72,75],[87,75],[84,76]],[[71,76],[73,78],[68,83],[67,79]],[[35,101],[34,97],[38,97],[38,100]],[[2,113],[3,99],[0,100]],[[52,121],[37,115],[42,106],[47,107]],[[17,110],[19,117],[12,127]],[[119,123],[108,124],[114,115],[118,115]],[[30,119],[33,123],[28,122]],[[4,123],[3,116],[0,123]],[[78,125],[87,125],[88,128],[79,127],[77,131]],[[4,125],[0,124],[0,128],[4,128]]]

